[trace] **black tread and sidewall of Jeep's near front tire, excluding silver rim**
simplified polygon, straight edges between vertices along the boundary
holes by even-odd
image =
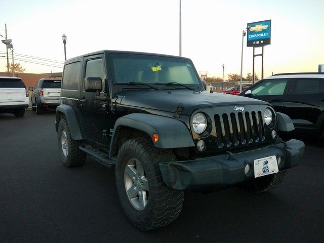
[[[125,168],[131,159],[140,161],[148,183],[148,199],[143,210],[136,209],[128,198]],[[172,223],[180,214],[183,191],[168,187],[159,169],[159,163],[174,161],[171,149],[154,148],[145,138],[127,140],[120,148],[115,169],[116,188],[121,207],[129,220],[140,230],[152,230]]]

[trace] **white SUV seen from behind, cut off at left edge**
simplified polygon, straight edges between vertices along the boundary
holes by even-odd
[[[28,90],[21,78],[0,77],[0,113],[21,117],[28,105]]]

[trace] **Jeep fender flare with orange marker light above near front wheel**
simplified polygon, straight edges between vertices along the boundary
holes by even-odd
[[[117,143],[118,133],[123,127],[129,127],[142,131],[151,138],[154,133],[158,134],[159,140],[153,142],[157,148],[184,148],[193,147],[194,142],[187,126],[180,120],[152,114],[132,113],[116,120],[109,156],[113,154]]]

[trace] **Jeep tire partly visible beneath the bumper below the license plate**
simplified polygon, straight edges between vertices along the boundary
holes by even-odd
[[[275,188],[287,176],[287,170],[279,170],[278,173],[262,176],[242,184],[242,188],[260,193]]]

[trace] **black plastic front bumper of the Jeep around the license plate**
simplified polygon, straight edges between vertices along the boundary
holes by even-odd
[[[279,170],[289,169],[299,164],[305,144],[292,139],[263,148],[239,153],[228,153],[217,156],[197,158],[188,161],[160,163],[164,182],[174,189],[207,189],[221,190],[254,178],[254,160],[275,155],[284,157]],[[244,169],[250,164],[252,170],[248,175]]]

